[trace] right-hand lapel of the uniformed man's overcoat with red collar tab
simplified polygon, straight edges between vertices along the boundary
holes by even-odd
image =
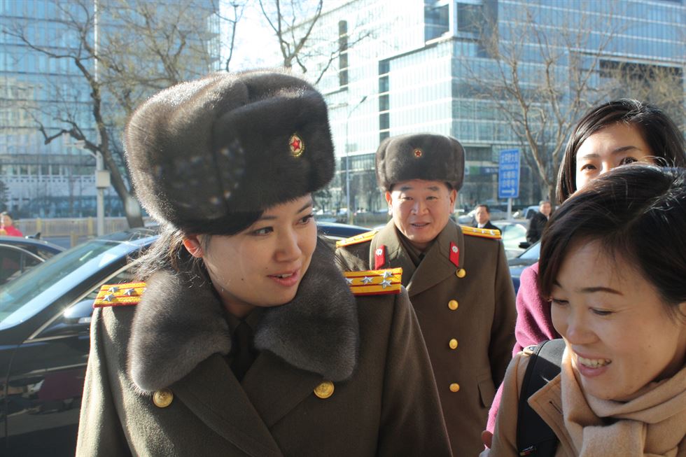
[[[459,249],[460,265],[456,266],[450,261],[450,243],[454,242]],[[462,231],[452,222],[444,227],[438,234],[433,246],[429,248],[419,267],[412,275],[407,285],[407,293],[412,297],[437,283],[454,276],[459,267],[464,265],[465,250]]]

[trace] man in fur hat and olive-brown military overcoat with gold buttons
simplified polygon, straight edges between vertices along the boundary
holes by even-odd
[[[454,456],[476,456],[514,344],[514,290],[499,232],[450,218],[464,176],[456,139],[410,134],[384,140],[377,181],[392,219],[340,241],[349,269],[402,267],[419,318]]]

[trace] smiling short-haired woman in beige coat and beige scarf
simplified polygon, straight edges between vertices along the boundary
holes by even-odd
[[[686,455],[685,232],[686,172],[643,164],[597,178],[552,216],[538,285],[566,349],[528,405],[559,440],[555,456]],[[510,363],[482,456],[540,455],[517,443],[530,360]]]

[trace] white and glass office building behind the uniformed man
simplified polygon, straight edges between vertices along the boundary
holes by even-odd
[[[514,133],[503,104],[498,103],[502,92],[491,90],[497,73],[493,54],[494,49],[517,48],[518,76],[524,90],[534,91],[545,59],[536,43],[541,36],[527,30],[526,21],[535,21],[543,39],[551,41],[550,49],[561,52],[552,69],[562,82],[555,95],[561,106],[573,101],[578,81],[572,75],[592,70],[587,73],[588,93],[582,95],[582,101],[590,103],[626,96],[622,78],[646,78],[661,70],[675,87],[669,112],[683,116],[686,5],[682,0],[336,3],[325,10],[315,29],[309,54],[321,57],[311,58],[314,63],[308,71],[317,74],[326,69],[318,87],[330,106],[339,156],[329,204],[345,206],[347,177],[353,209],[383,211],[386,203],[374,183],[374,152],[387,136],[409,132],[447,134],[465,146],[467,176],[458,206],[502,204],[497,198],[500,150],[528,146]],[[563,41],[574,33],[578,42],[564,48]],[[329,63],[328,56],[336,48],[342,52]],[[535,94],[530,95],[535,100]],[[580,113],[586,108],[582,106]],[[539,121],[531,121],[534,130]],[[683,118],[678,122],[683,125]],[[549,136],[542,138],[552,141]],[[515,204],[537,203],[545,195],[536,173],[521,160]]]

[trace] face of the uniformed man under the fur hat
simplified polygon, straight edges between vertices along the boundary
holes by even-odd
[[[422,179],[395,183],[386,192],[395,227],[422,251],[447,225],[456,197],[446,183]]]

